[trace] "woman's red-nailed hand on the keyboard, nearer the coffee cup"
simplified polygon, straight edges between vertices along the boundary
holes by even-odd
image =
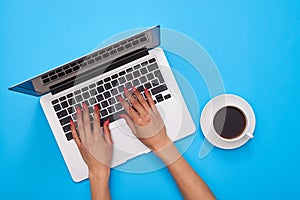
[[[166,134],[165,124],[149,90],[145,89],[147,100],[134,86],[131,93],[124,88],[124,94],[131,105],[119,97],[119,102],[127,112],[127,114],[121,114],[120,117],[126,120],[135,136],[152,151],[158,151],[172,143]]]

